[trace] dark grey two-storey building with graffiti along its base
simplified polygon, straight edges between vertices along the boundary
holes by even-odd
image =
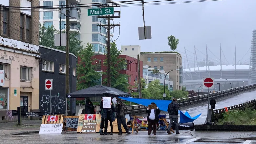
[[[53,79],[52,112],[65,113],[66,111],[66,52],[40,45],[39,64],[39,111],[50,112],[50,90],[45,90],[45,80]],[[73,53],[69,53],[69,86],[70,93],[76,91],[76,60]],[[71,99],[70,107],[75,113],[75,99]],[[69,102],[68,102],[69,106]]]

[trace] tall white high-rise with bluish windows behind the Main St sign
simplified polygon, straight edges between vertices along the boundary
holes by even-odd
[[[106,0],[69,0],[71,4],[85,4],[93,3],[105,3]],[[108,2],[110,2],[108,0]],[[40,6],[61,6],[66,5],[65,0],[40,0]],[[88,7],[96,8],[96,6]],[[57,7],[56,7],[57,8]],[[87,9],[78,9],[77,18],[70,18],[70,32],[76,32],[76,37],[82,41],[82,44],[86,46],[87,43],[92,43],[95,48],[96,54],[107,53],[107,31],[103,27],[98,27],[98,24],[106,24],[106,18],[97,18],[97,16],[88,16]],[[105,16],[105,15],[104,15]],[[59,30],[59,10],[43,10],[40,11],[39,20],[45,27],[52,26]],[[111,22],[113,19],[111,19]],[[61,14],[61,30],[66,28],[66,17]],[[110,31],[110,36],[113,36],[113,29]]]

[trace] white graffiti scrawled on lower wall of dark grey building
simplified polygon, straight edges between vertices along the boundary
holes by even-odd
[[[50,113],[51,103],[50,95],[43,95],[40,100],[40,112]],[[66,110],[66,98],[64,96],[52,96],[52,113],[65,113]]]

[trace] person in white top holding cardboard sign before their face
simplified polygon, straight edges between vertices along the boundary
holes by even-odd
[[[151,104],[155,104],[152,102]],[[157,109],[149,109],[147,108],[146,113],[148,113],[148,135],[152,132],[152,126],[153,126],[153,134],[156,135],[157,132],[157,123],[159,121],[159,114],[160,109],[157,107]]]

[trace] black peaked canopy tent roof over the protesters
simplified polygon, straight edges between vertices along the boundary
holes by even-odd
[[[121,97],[122,96],[130,96],[130,93],[125,93],[123,91],[117,90],[115,88],[110,88],[107,86],[97,85],[94,87],[86,88],[80,91],[76,91],[73,93],[69,93],[66,95],[66,98],[84,98],[84,97],[103,97],[104,92],[106,91],[114,91],[117,92]]]

